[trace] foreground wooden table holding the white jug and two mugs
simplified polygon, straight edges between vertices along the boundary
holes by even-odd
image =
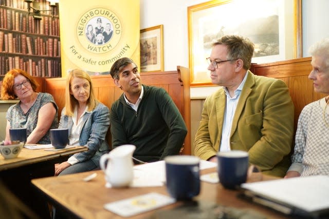
[[[215,169],[203,170],[202,173],[214,172]],[[97,177],[89,182],[83,182],[82,179],[96,172]],[[264,176],[263,180],[273,180],[276,177]],[[32,180],[36,186],[45,195],[46,200],[50,201],[56,208],[59,208],[66,215],[72,218],[122,218],[103,208],[103,205],[109,202],[122,200],[149,192],[157,192],[165,195],[166,187],[143,187],[143,188],[105,188],[104,173],[101,170],[64,175],[61,177],[47,177]],[[217,203],[239,209],[248,209],[264,214],[267,218],[288,218],[285,215],[255,205],[236,197],[238,191],[224,189],[221,184],[201,183],[200,194],[194,200],[199,202]],[[130,218],[152,217],[155,212],[166,209],[173,209],[183,202],[177,202],[154,211],[142,213]],[[156,218],[156,217],[152,217]],[[174,218],[171,218],[174,219]]]

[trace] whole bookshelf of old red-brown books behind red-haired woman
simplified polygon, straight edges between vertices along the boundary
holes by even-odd
[[[34,0],[50,10],[46,0]],[[24,0],[0,0],[0,81],[13,68],[32,76],[61,77],[61,42],[58,7],[55,15],[41,13],[33,19]]]

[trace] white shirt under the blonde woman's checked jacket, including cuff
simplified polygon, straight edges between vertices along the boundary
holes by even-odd
[[[71,120],[73,122],[73,125],[72,125],[72,128],[71,128],[71,133],[69,133],[69,136],[68,136],[70,145],[79,145],[80,133],[81,133],[81,130],[82,130],[82,127],[83,127],[83,120],[81,120],[81,118],[83,117],[83,115],[86,112],[89,112],[87,110],[88,110],[88,106],[86,106],[86,108],[84,109],[83,113],[81,114],[81,116],[80,116],[80,118],[79,118],[79,120],[77,122],[78,107],[76,107],[74,109],[73,115],[71,117]],[[68,158],[67,162],[70,165],[74,165],[76,163],[79,163],[79,160],[76,157],[74,157],[74,156],[70,156]]]

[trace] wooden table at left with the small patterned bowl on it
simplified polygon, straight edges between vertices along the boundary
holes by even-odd
[[[48,205],[41,196],[38,196],[31,180],[53,176],[54,164],[67,160],[71,154],[86,150],[88,148],[82,146],[58,151],[22,148],[16,158],[5,160],[0,156],[0,180],[41,218],[50,218]]]

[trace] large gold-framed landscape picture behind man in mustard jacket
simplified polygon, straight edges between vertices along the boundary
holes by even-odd
[[[206,58],[223,35],[248,37],[252,63],[302,57],[301,0],[214,0],[188,7],[191,86],[211,85]]]

